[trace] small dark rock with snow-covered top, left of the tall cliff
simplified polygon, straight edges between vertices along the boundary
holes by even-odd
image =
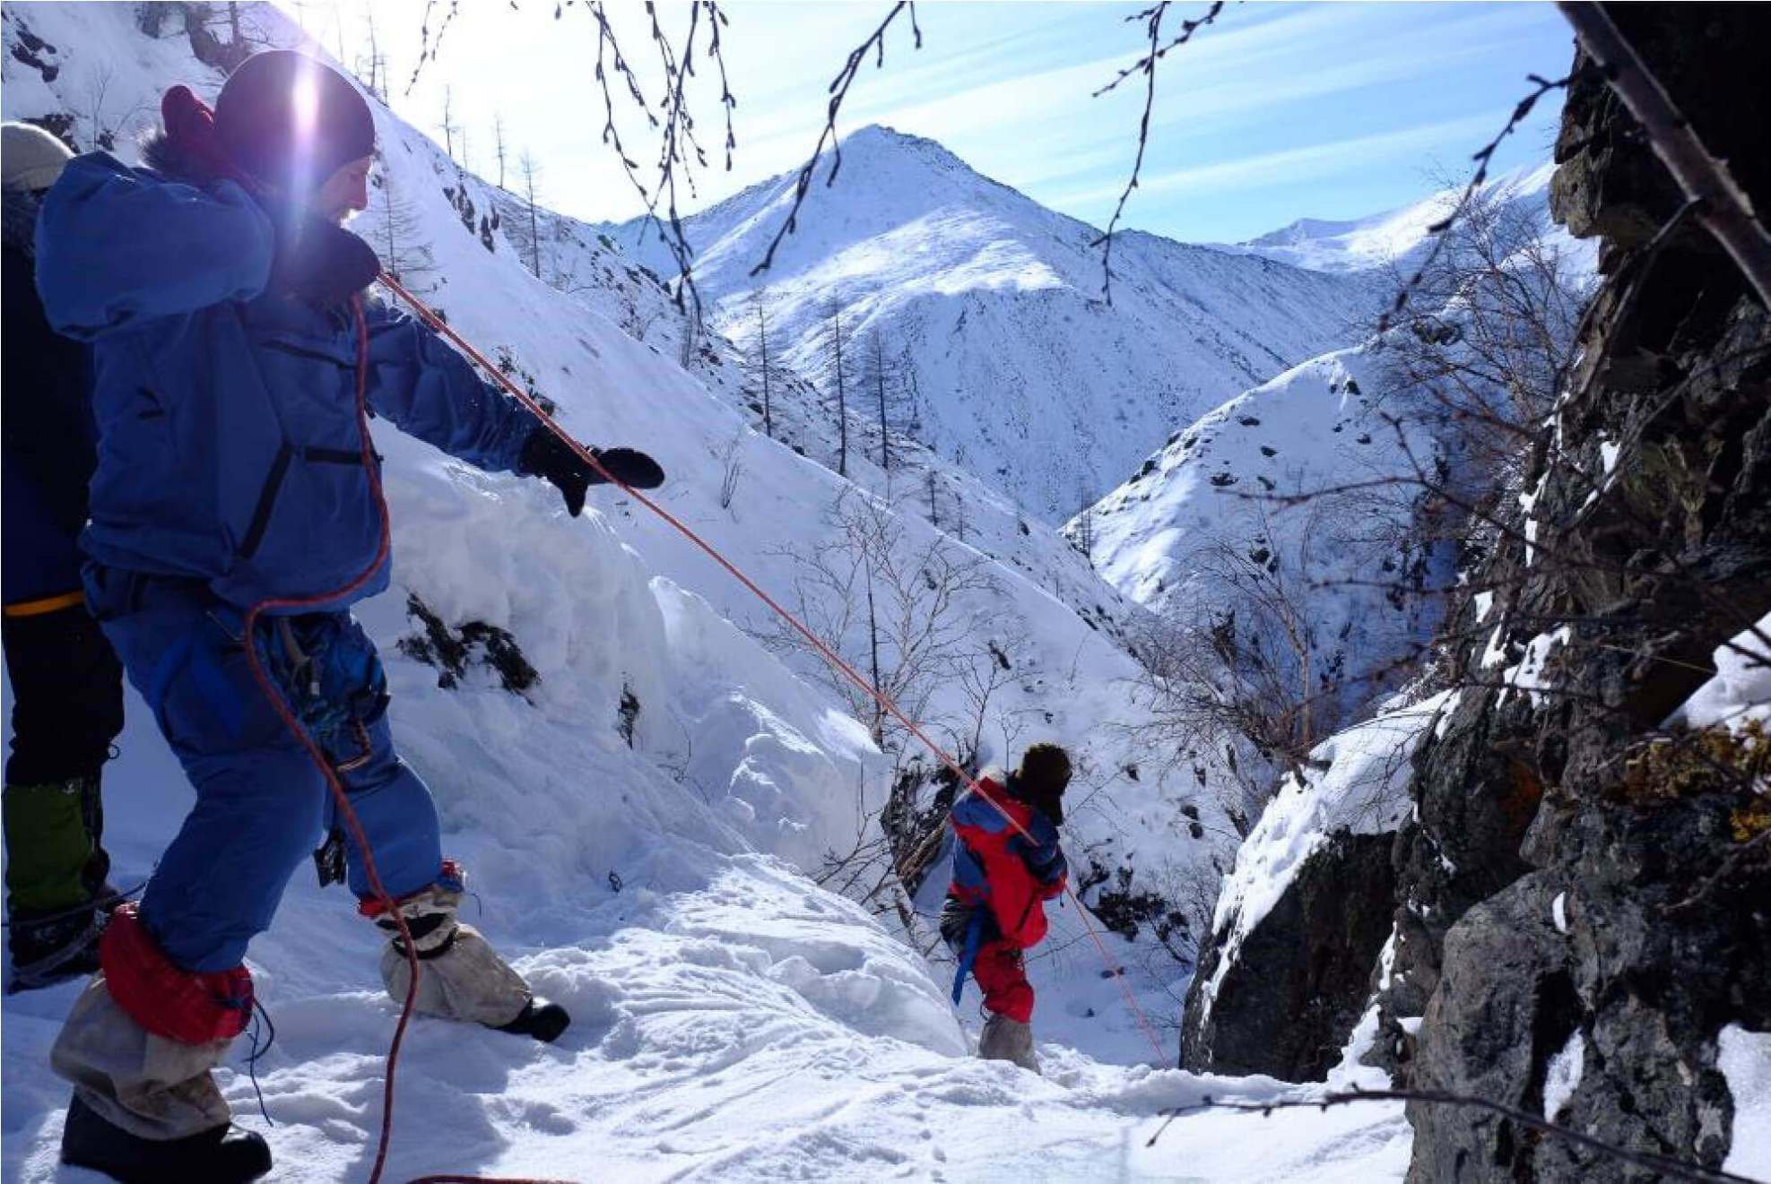
[[[1234,950],[1227,929],[1217,934],[1187,993],[1183,1069],[1286,1081],[1328,1076],[1390,931],[1392,842],[1388,834],[1330,835]]]

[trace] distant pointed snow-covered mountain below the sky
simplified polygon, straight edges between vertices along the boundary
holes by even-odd
[[[1220,391],[1351,340],[1371,296],[1365,278],[1133,232],[1114,246],[1109,306],[1093,227],[877,126],[843,140],[838,184],[816,186],[772,267],[751,276],[792,191],[785,173],[687,219],[715,324],[751,345],[762,285],[774,349],[834,400],[822,340],[841,304],[857,347],[877,331],[914,372],[919,437],[1054,522]],[[655,228],[607,234],[671,274]],[[850,400],[857,421],[873,418]]]

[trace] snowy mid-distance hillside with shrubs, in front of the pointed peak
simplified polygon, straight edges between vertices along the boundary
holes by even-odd
[[[1365,349],[1303,363],[1176,432],[1087,511],[1110,584],[1179,628],[1229,619],[1300,697],[1319,696],[1328,729],[1401,674],[1390,664],[1431,625],[1404,591],[1449,577],[1445,545],[1415,529],[1420,490],[1381,485],[1410,457],[1431,464],[1435,437],[1422,418],[1387,421],[1380,389]]]

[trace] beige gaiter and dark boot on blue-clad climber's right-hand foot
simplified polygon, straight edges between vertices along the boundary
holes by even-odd
[[[558,1003],[535,998],[530,984],[510,968],[473,926],[455,919],[462,878],[453,864],[445,880],[402,899],[397,908],[406,920],[418,954],[418,995],[414,1011],[445,1019],[466,1019],[499,1032],[553,1041],[570,1023]],[[411,986],[411,961],[400,940],[398,922],[375,901],[365,911],[391,934],[381,954],[381,980],[395,1003],[406,1002]]]

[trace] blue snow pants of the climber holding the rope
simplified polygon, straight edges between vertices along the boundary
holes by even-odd
[[[237,609],[195,580],[97,565],[87,566],[87,593],[197,789],[149,880],[142,920],[177,966],[232,970],[269,927],[290,874],[340,821],[331,788],[251,676]],[[393,750],[381,662],[363,627],[349,612],[317,612],[264,616],[255,632],[285,703],[340,770],[383,887],[400,897],[436,883],[436,803]],[[347,881],[367,899],[361,853],[349,826],[344,834]]]

